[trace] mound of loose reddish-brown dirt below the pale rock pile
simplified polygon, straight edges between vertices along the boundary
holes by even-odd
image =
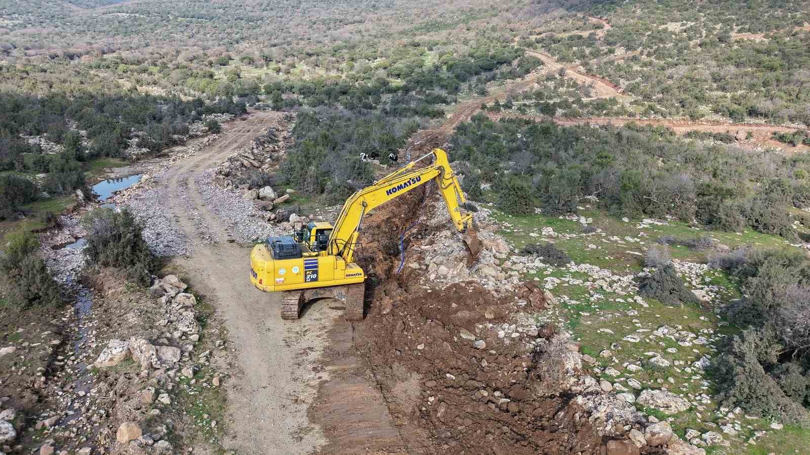
[[[394,421],[407,428],[409,446],[428,453],[602,452],[572,397],[541,389],[538,330],[516,327],[506,335],[514,299],[461,284],[418,294],[385,286],[378,296],[356,326],[355,344]]]

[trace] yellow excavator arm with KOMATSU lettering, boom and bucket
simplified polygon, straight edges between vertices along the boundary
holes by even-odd
[[[416,168],[418,162],[430,156],[433,156],[433,164],[424,168]],[[472,215],[464,215],[461,211],[461,206],[466,203],[464,193],[447,161],[447,153],[440,148],[434,148],[420,159],[411,161],[403,168],[391,172],[372,185],[352,194],[343,205],[343,210],[340,211],[335,228],[331,233],[329,253],[343,257],[346,263],[351,263],[363,216],[375,207],[398,198],[429,181],[436,181],[441,197],[447,205],[447,211],[450,213],[450,219],[453,220],[458,232],[467,232],[467,237],[463,237],[463,240],[467,244],[471,257],[477,257],[480,242],[472,232]]]

